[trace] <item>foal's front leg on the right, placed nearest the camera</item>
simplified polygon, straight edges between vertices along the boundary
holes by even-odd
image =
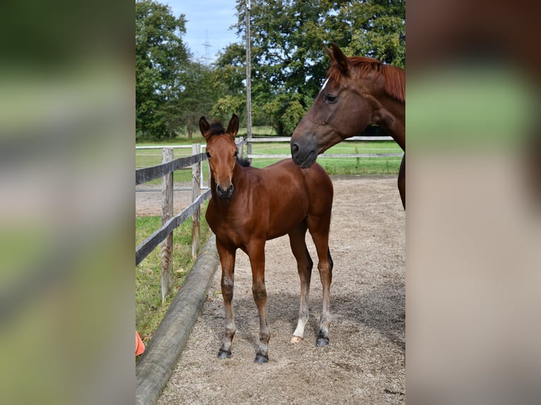
[[[271,330],[267,325],[266,305],[267,290],[265,288],[265,241],[252,241],[247,247],[251,265],[251,293],[256,301],[259,313],[259,347],[256,353],[256,363],[268,361],[268,341]]]

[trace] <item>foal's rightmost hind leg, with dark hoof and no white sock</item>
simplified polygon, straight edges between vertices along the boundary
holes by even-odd
[[[320,217],[308,217],[308,229],[314,239],[318,255],[318,270],[321,278],[323,292],[323,308],[321,310],[321,322],[316,344],[326,346],[328,344],[328,327],[331,325],[330,295],[331,282],[333,281],[333,259],[328,248],[328,232],[331,225],[331,212]]]

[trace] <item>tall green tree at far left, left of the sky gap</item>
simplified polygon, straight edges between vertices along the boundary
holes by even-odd
[[[153,0],[136,1],[136,130],[174,135],[178,89],[189,53],[182,42],[184,14]]]

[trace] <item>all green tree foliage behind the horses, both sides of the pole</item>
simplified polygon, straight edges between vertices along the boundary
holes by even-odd
[[[161,0],[157,0],[161,1]],[[169,6],[136,0],[136,129],[154,137],[198,128],[201,115],[246,117],[246,0],[234,29],[242,42],[212,66],[182,42],[186,18]],[[330,61],[323,44],[347,55],[405,67],[404,0],[251,0],[251,98],[254,125],[290,135],[309,109]]]

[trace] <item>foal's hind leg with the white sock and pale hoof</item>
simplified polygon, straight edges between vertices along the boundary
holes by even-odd
[[[295,329],[295,332],[293,332],[291,343],[297,343],[304,339],[304,327],[308,322],[308,295],[310,292],[310,279],[314,262],[312,262],[310,258],[307,244],[304,239],[306,233],[307,224],[306,222],[302,222],[302,224],[299,224],[299,226],[293,229],[289,234],[291,251],[297,260],[297,271],[299,272],[299,279],[301,282],[299,320],[297,321],[297,328]]]

